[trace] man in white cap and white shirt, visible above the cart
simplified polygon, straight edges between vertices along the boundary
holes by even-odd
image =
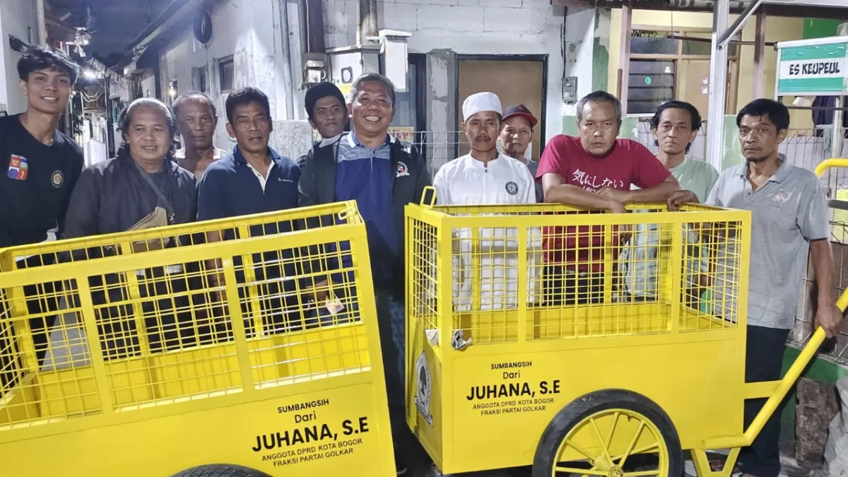
[[[502,117],[494,93],[476,93],[462,104],[462,130],[471,152],[442,166],[433,179],[439,205],[534,204],[533,174],[520,160],[498,154]]]

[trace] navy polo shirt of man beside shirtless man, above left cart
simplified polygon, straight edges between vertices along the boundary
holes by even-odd
[[[244,160],[237,145],[232,154],[210,164],[198,190],[198,220],[297,207],[300,169],[274,149],[268,151],[271,165],[265,177]]]

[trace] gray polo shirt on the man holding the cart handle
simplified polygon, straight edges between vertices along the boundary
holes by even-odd
[[[817,177],[789,165],[782,154],[780,159],[778,170],[756,190],[748,180],[747,163],[722,172],[706,203],[751,211],[748,324],[786,329],[795,324],[810,242],[828,239],[830,226]],[[719,279],[740,266],[729,258],[736,256],[734,245],[723,249],[726,256],[720,257],[715,272]],[[725,314],[733,314],[733,295],[739,292],[722,284],[718,280],[714,289],[724,292]]]

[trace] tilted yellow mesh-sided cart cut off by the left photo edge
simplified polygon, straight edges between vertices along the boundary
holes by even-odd
[[[353,202],[0,261],[0,476],[394,475]]]

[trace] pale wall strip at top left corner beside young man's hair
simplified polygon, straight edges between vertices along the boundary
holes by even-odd
[[[26,98],[18,87],[18,59],[20,53],[8,46],[8,36],[17,36],[24,42],[38,43],[36,5],[34,0],[3,0],[0,2],[0,55],[3,57],[4,75],[0,78],[0,103],[6,104],[9,115],[26,109]]]

